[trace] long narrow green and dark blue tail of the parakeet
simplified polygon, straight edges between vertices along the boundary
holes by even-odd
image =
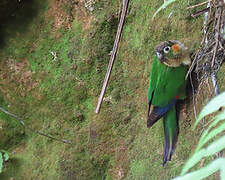
[[[171,160],[171,157],[176,148],[179,127],[178,127],[178,118],[176,115],[175,105],[167,112],[163,120],[164,125],[164,154],[163,154],[163,166],[166,162]]]

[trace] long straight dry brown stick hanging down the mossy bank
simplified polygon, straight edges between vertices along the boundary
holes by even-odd
[[[120,22],[119,22],[117,33],[116,33],[116,39],[114,41],[112,54],[111,54],[109,65],[108,65],[107,72],[106,72],[106,75],[105,75],[105,80],[104,80],[104,83],[103,83],[103,86],[102,86],[102,91],[101,91],[101,94],[100,94],[99,99],[98,99],[98,105],[97,105],[97,108],[95,110],[96,113],[99,113],[99,110],[101,108],[102,100],[103,100],[105,90],[106,90],[106,87],[107,87],[107,84],[108,84],[108,81],[109,81],[110,73],[111,73],[111,70],[112,70],[112,67],[113,67],[113,64],[114,64],[114,60],[116,58],[118,44],[119,44],[119,41],[120,41],[120,37],[121,37],[122,29],[123,29],[123,24],[124,24],[124,20],[125,20],[126,13],[127,13],[128,3],[129,3],[129,0],[123,1],[123,9],[122,9],[122,13],[121,13],[121,16],[120,16]]]

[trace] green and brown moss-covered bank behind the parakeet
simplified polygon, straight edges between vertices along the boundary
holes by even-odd
[[[153,21],[162,2],[131,0],[106,98],[96,115],[119,2],[96,1],[91,12],[84,1],[22,1],[4,23],[0,105],[32,128],[73,145],[34,134],[0,113],[0,148],[11,152],[0,179],[167,180],[179,175],[200,134],[191,130],[191,97],[187,114],[180,113],[176,152],[163,168],[162,124],[146,128],[149,69],[161,41],[178,39],[197,49],[202,19],[191,19],[185,10],[194,1],[178,1]],[[206,102],[200,101],[199,108]]]

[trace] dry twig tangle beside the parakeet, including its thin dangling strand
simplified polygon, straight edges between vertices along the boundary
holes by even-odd
[[[195,72],[197,73],[197,80],[199,82],[199,86],[196,94],[194,94],[193,90],[194,86],[191,77],[191,72],[193,69],[192,66],[190,67],[187,73],[187,76],[190,74],[190,81],[193,93],[193,111],[195,118],[196,118],[195,103],[196,101],[198,101],[198,97],[200,96],[200,91],[202,90],[203,84],[206,83],[208,85],[210,92],[215,93],[216,95],[219,94],[216,72],[219,70],[223,62],[223,58],[221,57],[223,54],[223,52],[221,52],[223,51],[223,42],[220,42],[221,40],[219,33],[221,32],[220,31],[221,22],[223,22],[222,12],[224,4],[219,4],[216,3],[215,1],[212,0],[208,1],[208,5],[205,9],[198,11],[197,13],[194,14],[194,17],[196,17],[204,13],[203,38],[201,41],[201,45],[203,45],[204,43],[204,46],[197,51],[195,58],[192,62],[192,66],[197,64],[195,67]],[[222,0],[220,2],[222,2]],[[210,88],[208,82],[209,78],[212,79],[214,91],[212,91],[213,89]]]

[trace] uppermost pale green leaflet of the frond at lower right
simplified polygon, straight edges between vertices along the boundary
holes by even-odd
[[[213,98],[201,111],[199,114],[198,119],[194,124],[194,128],[196,128],[199,121],[204,118],[205,116],[218,111],[220,107],[225,107],[225,92],[221,93],[220,95]]]

